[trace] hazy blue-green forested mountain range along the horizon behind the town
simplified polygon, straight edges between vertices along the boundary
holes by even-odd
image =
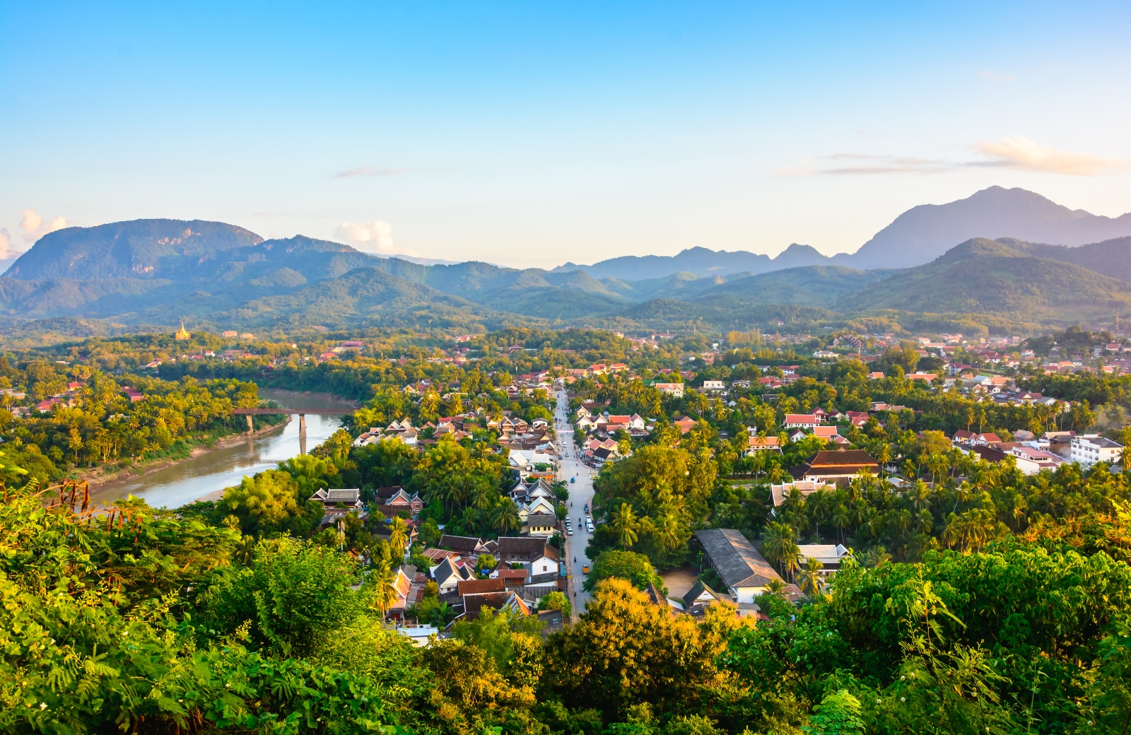
[[[916,231],[908,224],[943,222],[948,232],[967,232],[940,219],[940,211],[968,208],[973,200],[982,202],[975,207],[982,210],[994,198],[1029,202],[1044,213],[1041,222],[1059,227],[1060,239],[1071,242],[966,237],[940,248],[934,235],[927,236],[929,227]],[[921,208],[905,213],[870,241],[878,244],[867,252],[862,248],[863,256],[882,253],[884,243],[893,242],[895,235],[884,234],[892,227],[918,232],[918,252],[939,252],[898,268],[852,267],[834,262],[840,256],[824,258],[795,244],[774,259],[697,248],[668,259],[618,258],[597,263],[601,268],[516,269],[379,258],[340,243],[264,240],[243,227],[204,220],[68,227],[44,235],[0,277],[0,334],[109,335],[163,329],[181,320],[192,328],[284,331],[475,325],[749,329],[873,317],[922,320],[923,314],[1016,331],[1019,326],[1099,323],[1125,313],[1131,236],[1093,244],[1077,240],[1080,233],[1131,227],[1129,217],[1095,217],[1036,200],[1047,202],[1030,192],[998,189],[925,214],[915,214]],[[1030,230],[1020,230],[1034,228],[1039,227],[1030,223]],[[861,262],[870,262],[866,258]]]

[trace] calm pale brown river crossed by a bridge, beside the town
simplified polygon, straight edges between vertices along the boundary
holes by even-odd
[[[260,389],[259,397],[285,408],[351,408],[347,401],[330,396]],[[340,426],[340,416],[307,416],[307,449],[313,449]],[[290,423],[256,439],[185,459],[141,477],[107,483],[92,491],[90,498],[105,503],[136,495],[154,508],[176,508],[239,485],[244,475],[271,469],[300,455],[302,449],[299,417],[294,416]]]

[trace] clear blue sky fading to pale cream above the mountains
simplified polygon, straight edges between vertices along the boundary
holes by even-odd
[[[1126,2],[233,5],[0,2],[10,249],[173,217],[553,266],[854,251],[993,184],[1131,210]]]

